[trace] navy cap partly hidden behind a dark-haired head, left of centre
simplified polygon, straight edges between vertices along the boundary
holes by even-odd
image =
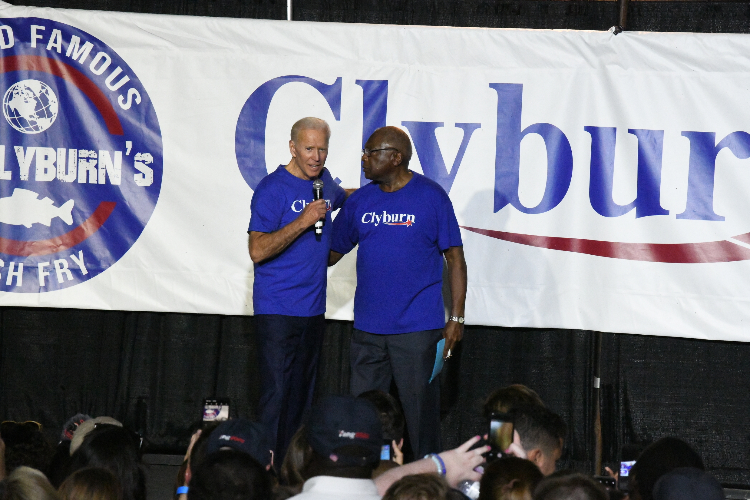
[[[206,456],[221,448],[232,448],[248,454],[262,466],[271,465],[271,442],[269,432],[263,424],[251,422],[247,418],[223,421],[208,436]]]

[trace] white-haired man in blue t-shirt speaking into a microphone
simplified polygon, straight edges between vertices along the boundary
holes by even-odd
[[[325,328],[331,211],[347,196],[323,167],[330,136],[320,118],[297,121],[289,142],[292,160],[260,181],[251,202],[260,421],[272,431],[279,464],[313,400]],[[318,179],[323,197],[314,200]],[[325,220],[321,235],[313,227],[318,220]]]

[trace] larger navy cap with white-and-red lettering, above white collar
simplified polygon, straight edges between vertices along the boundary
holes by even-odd
[[[380,460],[383,430],[380,415],[368,400],[326,397],[311,409],[305,430],[313,451],[335,463],[365,466]]]

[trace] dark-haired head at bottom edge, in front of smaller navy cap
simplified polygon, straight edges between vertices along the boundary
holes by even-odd
[[[220,450],[193,471],[188,500],[268,500],[273,484],[266,468],[249,454]]]

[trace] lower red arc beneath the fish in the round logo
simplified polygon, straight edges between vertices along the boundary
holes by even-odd
[[[37,241],[18,241],[0,238],[0,253],[19,257],[31,257],[68,250],[68,248],[75,247],[97,232],[107,222],[107,219],[110,218],[115,205],[117,205],[116,202],[101,202],[91,217],[86,219],[83,224],[72,231],[66,232],[62,236]]]

